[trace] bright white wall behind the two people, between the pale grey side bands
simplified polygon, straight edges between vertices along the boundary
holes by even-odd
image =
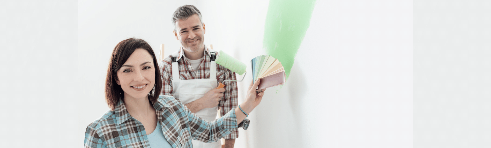
[[[79,1],[79,135],[108,110],[104,79],[110,53],[138,37],[156,54],[179,48],[170,17],[193,4],[214,44],[247,64],[239,102],[251,80],[249,60],[265,55],[268,1]],[[240,76],[239,76],[240,77]],[[310,28],[283,87],[267,90],[240,130],[236,148],[412,147],[411,0],[318,0]]]

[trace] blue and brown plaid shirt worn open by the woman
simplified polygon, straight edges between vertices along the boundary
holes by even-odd
[[[191,139],[216,142],[238,127],[246,130],[249,126],[247,118],[237,125],[235,110],[207,122],[172,96],[161,95],[153,106],[164,137],[173,148],[192,148]],[[87,126],[84,148],[150,148],[150,144],[143,124],[120,101],[114,111],[109,110]]]

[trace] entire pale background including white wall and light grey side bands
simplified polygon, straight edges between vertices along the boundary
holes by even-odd
[[[318,0],[287,84],[235,146],[489,148],[491,13],[478,1]],[[264,1],[2,4],[1,143],[82,147],[108,109],[111,50],[128,37],[178,47],[169,22],[183,4],[202,11],[206,44],[245,63],[265,54]]]

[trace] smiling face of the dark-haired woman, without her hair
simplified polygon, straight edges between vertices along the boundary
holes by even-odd
[[[116,83],[121,85],[124,97],[148,99],[155,85],[155,68],[152,56],[144,49],[136,49],[116,73]]]

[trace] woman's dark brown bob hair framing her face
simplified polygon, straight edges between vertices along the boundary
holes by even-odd
[[[108,66],[108,74],[106,76],[106,102],[111,111],[114,111],[114,107],[120,100],[124,98],[123,89],[116,83],[116,72],[123,66],[124,62],[130,58],[131,54],[138,49],[146,50],[150,56],[152,56],[155,68],[155,86],[148,93],[148,100],[155,103],[162,91],[162,79],[160,76],[159,65],[157,64],[157,58],[152,50],[152,47],[142,39],[129,38],[119,42],[112,51],[111,59]]]

